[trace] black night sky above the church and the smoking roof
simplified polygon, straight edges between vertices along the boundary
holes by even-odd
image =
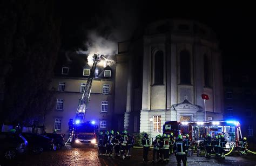
[[[79,45],[80,41],[86,40],[84,33],[86,29],[99,29],[104,35],[114,33],[115,28],[123,32],[126,29],[133,31],[136,27],[145,26],[154,20],[180,18],[198,20],[212,27],[219,39],[224,70],[237,65],[248,68],[253,58],[256,26],[254,10],[250,4],[102,1],[62,5],[65,11],[63,15],[65,26],[62,29],[65,46]],[[70,44],[70,38],[78,36],[79,39]],[[120,35],[118,38],[117,41],[126,40]]]

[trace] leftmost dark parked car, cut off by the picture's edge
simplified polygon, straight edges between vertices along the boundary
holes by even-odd
[[[28,141],[21,135],[15,133],[0,133],[0,156],[8,160],[23,154],[28,146]]]

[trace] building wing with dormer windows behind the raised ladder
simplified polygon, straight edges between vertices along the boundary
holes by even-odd
[[[114,75],[115,64],[113,56],[98,63],[92,82],[90,102],[84,121],[95,121],[100,130],[111,128],[114,106]],[[78,101],[81,98],[87,77],[89,77],[92,62],[85,54],[65,53],[56,66],[55,77],[51,88],[56,90],[56,105],[46,115],[46,132],[69,133],[69,122],[73,121]]]

